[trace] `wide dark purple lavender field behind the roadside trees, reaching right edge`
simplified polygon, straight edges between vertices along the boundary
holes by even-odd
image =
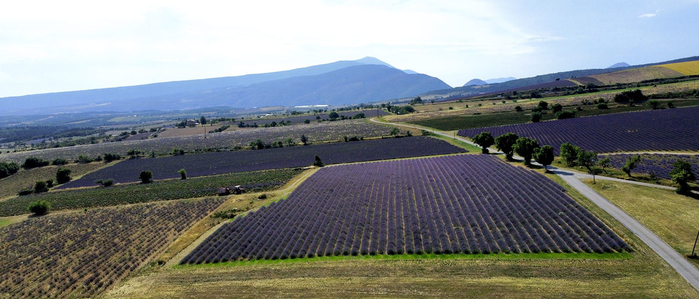
[[[485,131],[498,137],[513,132],[550,144],[556,155],[565,142],[598,153],[699,151],[697,115],[699,107],[661,109],[459,130],[459,136],[473,138]]]

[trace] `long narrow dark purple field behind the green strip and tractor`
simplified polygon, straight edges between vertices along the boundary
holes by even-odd
[[[287,146],[250,151],[224,151],[164,158],[140,158],[99,169],[58,188],[96,186],[94,181],[112,178],[114,183],[140,181],[140,171],[150,170],[153,179],[210,176],[243,171],[310,166],[315,155],[326,164],[408,158],[421,155],[464,153],[465,149],[431,137],[403,137],[367,141],[336,142],[310,146]]]

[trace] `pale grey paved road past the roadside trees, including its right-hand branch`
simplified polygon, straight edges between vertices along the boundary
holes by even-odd
[[[381,121],[377,121],[375,118],[371,118],[371,121],[375,123],[383,123]],[[422,129],[413,125],[403,125],[403,124],[398,124],[398,123],[390,123],[391,125],[400,125],[402,127],[406,128],[415,128],[415,129]],[[442,136],[454,138],[452,135],[445,134],[443,132],[438,132],[434,131],[435,134],[439,134]],[[468,144],[473,144],[474,146],[478,146],[477,144],[474,144],[471,141],[468,141],[466,139],[463,139],[461,137],[456,137],[456,139],[459,139],[460,141],[466,142]],[[493,151],[493,153],[502,153],[500,151]],[[656,253],[658,253],[659,256],[661,256],[665,261],[667,261],[672,268],[675,268],[679,275],[682,275],[684,279],[689,282],[692,286],[694,286],[694,289],[697,289],[699,291],[699,269],[697,269],[695,266],[693,266],[689,261],[684,259],[682,255],[677,253],[668,243],[665,243],[661,238],[656,236],[655,233],[644,227],[640,222],[637,220],[633,219],[633,217],[629,216],[624,212],[624,210],[621,210],[621,208],[614,206],[611,201],[597,193],[595,190],[593,190],[591,187],[588,187],[582,181],[579,180],[579,178],[592,178],[591,175],[589,174],[583,174],[577,171],[569,171],[569,170],[563,170],[563,169],[558,169],[556,167],[549,167],[554,174],[557,174],[561,178],[563,178],[563,181],[565,183],[568,183],[570,187],[575,188],[578,192],[583,194],[585,197],[589,198],[593,203],[595,203],[597,206],[605,210],[607,213],[612,215],[612,217],[616,218],[621,224],[624,224],[624,227],[629,229],[632,233],[634,233],[638,238],[640,238],[644,243],[646,243],[649,247],[651,247],[652,250],[654,250]],[[663,185],[654,185],[654,184],[649,184],[649,183],[642,183],[642,182],[634,182],[634,181],[626,181],[622,180],[620,178],[609,178],[605,176],[596,176],[597,179],[602,179],[602,180],[610,180],[610,181],[620,181],[623,183],[633,183],[637,185],[647,185],[649,187],[660,187],[664,189],[675,189],[673,187],[668,187],[668,186],[663,186]]]

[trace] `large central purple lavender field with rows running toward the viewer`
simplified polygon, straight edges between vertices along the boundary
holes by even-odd
[[[622,250],[624,240],[545,176],[489,155],[451,155],[325,167],[180,263]]]

